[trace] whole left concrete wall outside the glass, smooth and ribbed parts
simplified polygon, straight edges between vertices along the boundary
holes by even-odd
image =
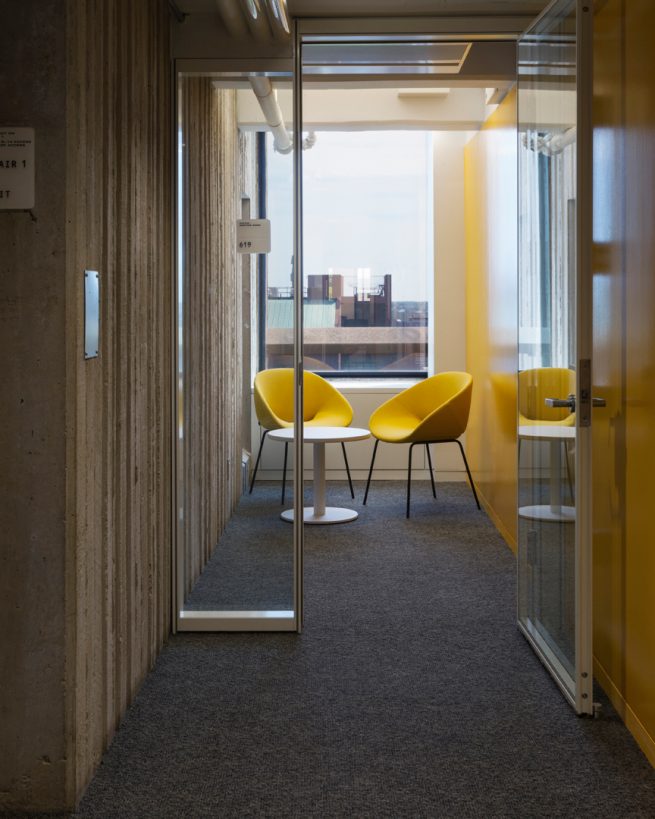
[[[36,205],[0,212],[0,810],[52,811],[170,626],[169,9],[11,5],[0,124],[36,129]]]

